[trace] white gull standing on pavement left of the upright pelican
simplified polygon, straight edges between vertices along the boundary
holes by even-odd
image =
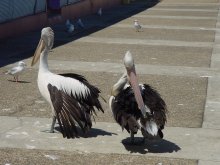
[[[18,82],[18,76],[25,70],[27,65],[23,61],[19,61],[17,66],[9,69],[5,74],[12,75],[14,80]]]

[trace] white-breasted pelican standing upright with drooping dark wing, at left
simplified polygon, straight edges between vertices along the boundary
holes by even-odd
[[[54,32],[43,28],[31,66],[40,59],[38,88],[52,108],[53,120],[49,132],[54,132],[58,120],[63,137],[78,136],[77,125],[86,133],[92,127],[91,117],[95,110],[104,112],[99,101],[100,90],[91,85],[83,76],[67,73],[54,74],[48,68],[48,53],[54,42]]]

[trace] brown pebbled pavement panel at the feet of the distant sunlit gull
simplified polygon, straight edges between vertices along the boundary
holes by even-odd
[[[103,38],[138,38],[145,40],[177,40],[191,42],[212,42],[215,32],[213,31],[182,31],[169,29],[144,29],[143,32],[136,33],[134,29],[119,31],[117,28],[107,28],[91,34],[91,37]]]

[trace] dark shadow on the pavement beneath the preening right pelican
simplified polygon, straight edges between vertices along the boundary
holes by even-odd
[[[135,138],[137,141],[141,141],[142,139],[143,138],[141,137]],[[126,150],[130,151],[130,153],[172,153],[181,150],[178,145],[165,139],[162,139],[158,142],[145,141],[145,143],[137,145],[128,144],[129,140],[130,138],[123,139],[122,144]]]

